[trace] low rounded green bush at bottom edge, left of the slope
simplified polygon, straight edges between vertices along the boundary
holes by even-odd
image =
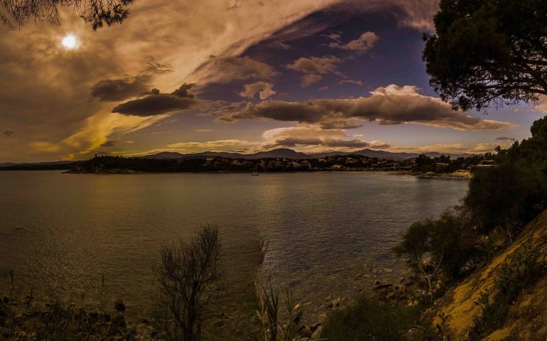
[[[419,305],[400,307],[384,305],[374,298],[362,297],[343,310],[327,316],[321,339],[329,341],[406,340],[421,313]]]

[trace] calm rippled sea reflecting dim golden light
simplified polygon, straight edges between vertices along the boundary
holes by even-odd
[[[146,310],[161,245],[209,223],[220,227],[235,296],[249,296],[263,238],[263,276],[313,307],[366,290],[377,277],[400,278],[404,262],[391,247],[411,222],[438,217],[466,190],[465,180],[357,172],[3,171],[0,276],[13,270],[35,292],[92,297],[104,274],[112,298]]]

